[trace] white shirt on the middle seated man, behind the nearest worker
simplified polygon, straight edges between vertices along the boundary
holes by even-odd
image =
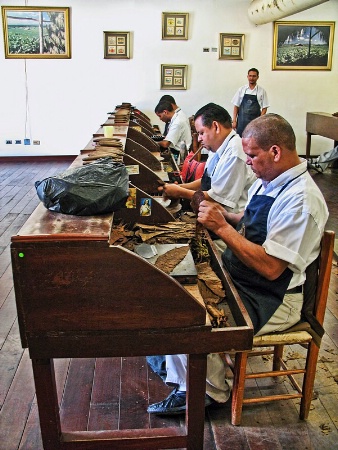
[[[205,170],[211,177],[208,195],[229,211],[242,211],[256,176],[246,164],[242,139],[235,131],[230,132],[215,153],[209,152]]]

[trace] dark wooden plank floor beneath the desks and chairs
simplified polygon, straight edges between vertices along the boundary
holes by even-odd
[[[42,449],[31,363],[21,348],[13,292],[10,239],[38,204],[34,182],[66,169],[70,160],[0,160],[0,450]],[[328,229],[338,235],[338,173],[313,172],[330,210]],[[230,405],[209,408],[204,448],[252,450],[332,450],[338,448],[338,298],[337,263],[332,269],[326,335],[320,351],[315,397],[307,421],[298,419],[297,401],[247,406],[242,425],[230,424]],[[298,364],[299,352],[288,352]],[[262,359],[251,363],[259,367]],[[168,392],[144,358],[56,361],[64,430],[160,427],[180,419],[149,417],[148,402]],[[268,394],[289,389],[288,382],[261,382]],[[98,449],[99,450],[99,449]],[[146,450],[146,449],[145,449]]]

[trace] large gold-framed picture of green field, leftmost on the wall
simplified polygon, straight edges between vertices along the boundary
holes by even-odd
[[[5,58],[70,58],[70,8],[2,6]]]

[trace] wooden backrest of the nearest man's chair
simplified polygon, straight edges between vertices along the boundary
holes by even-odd
[[[307,321],[318,335],[318,342],[324,334],[323,321],[330,284],[334,239],[333,231],[324,231],[320,253],[306,269],[302,319]]]

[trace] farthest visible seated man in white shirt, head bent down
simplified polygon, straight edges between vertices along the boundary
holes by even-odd
[[[168,100],[160,101],[155,108],[155,113],[162,122],[169,123],[167,135],[158,144],[162,149],[169,149],[178,160],[182,145],[186,148],[190,148],[191,145],[189,120],[181,108],[174,109]]]

